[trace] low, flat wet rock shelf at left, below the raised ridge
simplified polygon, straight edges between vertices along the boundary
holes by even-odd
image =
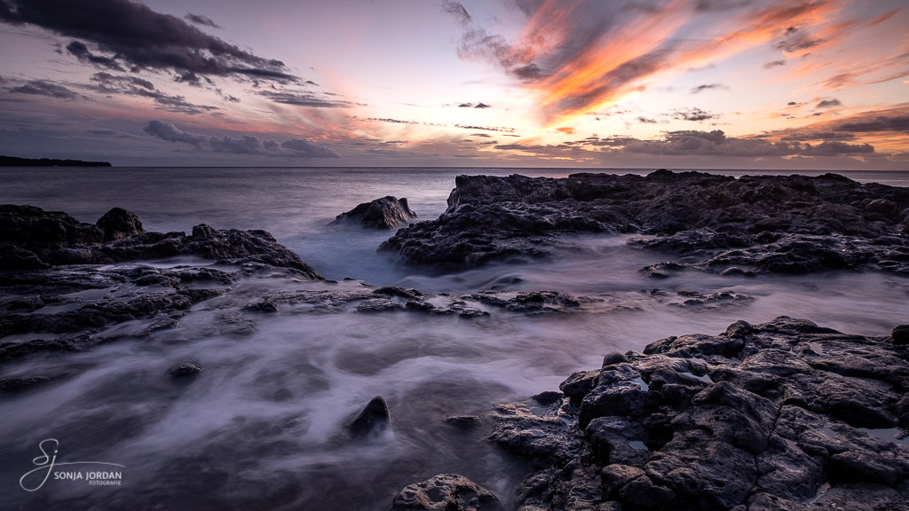
[[[115,340],[98,335],[126,321],[145,324],[145,336],[178,325],[191,306],[221,296],[235,276],[213,268],[66,266],[0,272],[0,361],[48,351],[78,351]],[[142,336],[142,335],[140,335]]]

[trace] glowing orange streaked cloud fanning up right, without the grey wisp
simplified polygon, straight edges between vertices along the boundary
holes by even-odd
[[[706,16],[719,18],[727,13],[705,13],[697,4],[674,0],[655,12],[638,9],[629,14],[631,7],[625,6],[613,13],[623,16],[620,25],[604,23],[602,33],[595,36],[589,30],[573,35],[579,20],[583,24],[582,16],[595,19],[596,15],[604,15],[598,8],[580,2],[566,6],[548,0],[537,8],[524,27],[521,39],[530,44],[522,46],[523,62],[536,65],[530,62],[535,58],[542,64],[543,75],[526,85],[539,91],[542,112],[550,125],[563,124],[574,116],[614,104],[642,90],[658,74],[683,72],[798,31],[804,35],[799,34],[785,48],[796,51],[829,45],[851,25],[824,26],[814,35],[798,27],[829,22],[837,11],[834,3],[807,1],[792,5],[787,1],[741,13],[732,21],[720,21],[719,24],[734,28],[693,42],[679,39],[680,30],[694,30],[707,22]]]

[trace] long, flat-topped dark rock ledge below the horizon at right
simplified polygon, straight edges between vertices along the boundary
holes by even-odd
[[[874,266],[909,274],[909,188],[833,174],[735,179],[665,170],[459,175],[455,185],[443,215],[405,227],[379,250],[405,263],[460,269],[552,255],[560,235],[640,233],[655,237],[634,246],[699,261],[678,268],[735,266],[745,274]]]

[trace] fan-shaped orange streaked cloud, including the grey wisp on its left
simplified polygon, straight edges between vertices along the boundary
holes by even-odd
[[[473,22],[458,55],[494,63],[523,80],[539,92],[541,113],[555,124],[642,90],[659,73],[684,72],[774,40],[784,48],[817,45],[810,31],[797,27],[823,23],[836,11],[826,0],[541,0],[517,2],[517,8],[526,23],[515,41]],[[708,15],[724,21],[704,38],[679,36],[703,27]]]

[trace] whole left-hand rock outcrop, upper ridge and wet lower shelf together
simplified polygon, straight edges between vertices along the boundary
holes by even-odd
[[[179,255],[225,267],[119,265]],[[0,343],[0,361],[109,342],[115,336],[95,334],[126,321],[144,320],[145,335],[173,328],[191,306],[229,291],[236,274],[275,270],[322,280],[265,231],[203,224],[190,235],[153,233],[119,207],[93,225],[34,206],[0,205],[0,337],[25,336]]]

